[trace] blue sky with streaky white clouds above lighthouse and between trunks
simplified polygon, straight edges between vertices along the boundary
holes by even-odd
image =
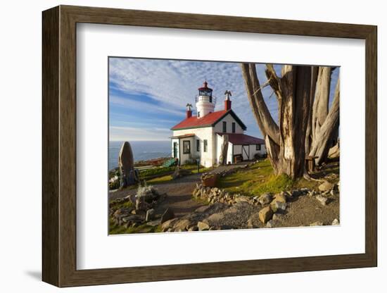
[[[280,73],[281,66],[275,66]],[[257,64],[260,83],[267,79],[265,65]],[[338,77],[334,70],[331,96]],[[217,97],[215,111],[224,107],[224,92],[231,91],[232,109],[247,126],[246,134],[262,137],[246,96],[239,63],[109,58],[110,141],[169,140],[170,128],[185,118],[186,104],[195,109],[195,96],[203,81]],[[263,89],[270,113],[277,121],[277,100],[270,87]]]

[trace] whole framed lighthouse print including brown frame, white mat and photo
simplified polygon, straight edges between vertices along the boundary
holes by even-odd
[[[43,12],[43,280],[376,266],[376,27]]]

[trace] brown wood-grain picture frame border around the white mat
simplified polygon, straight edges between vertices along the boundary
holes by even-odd
[[[57,6],[43,12],[42,279],[58,287],[214,278],[377,265],[376,26]],[[364,39],[365,253],[77,270],[76,25],[99,23]]]

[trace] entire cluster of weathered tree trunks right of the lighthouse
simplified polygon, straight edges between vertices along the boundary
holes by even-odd
[[[273,120],[258,80],[254,63],[241,64],[248,100],[255,120],[265,137],[267,155],[274,172],[293,179],[307,175],[305,157],[317,156],[316,164],[326,160],[338,130],[340,82],[329,111],[332,69],[319,66],[283,66],[281,77],[274,66],[266,65],[266,85],[278,101],[278,125]]]

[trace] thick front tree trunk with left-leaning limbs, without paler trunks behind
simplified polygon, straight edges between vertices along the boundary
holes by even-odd
[[[265,111],[267,106],[260,90],[255,64],[244,63],[241,67],[248,98],[262,135],[265,136],[267,154],[274,173],[286,174],[293,179],[301,177],[305,172],[305,134],[310,115],[312,68],[284,66],[280,78],[274,67],[267,65],[265,73],[279,106],[277,125],[269,111]],[[265,108],[260,109],[262,104]]]

